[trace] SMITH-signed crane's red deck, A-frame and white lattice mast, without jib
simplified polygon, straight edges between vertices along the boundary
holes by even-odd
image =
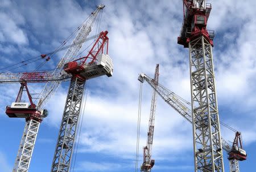
[[[15,103],[13,103],[12,106],[6,107],[6,114],[9,115],[9,117],[26,118],[26,126],[15,159],[13,169],[15,172],[27,171],[30,165],[40,123],[42,122],[42,119],[47,116],[44,115],[43,111],[38,111],[38,109],[36,109],[36,105],[32,101],[32,96],[28,91],[27,83],[21,82],[20,84],[19,93]],[[22,93],[24,91],[27,92],[28,99],[30,100],[29,106],[28,103],[21,102]],[[28,107],[24,109],[23,106]]]

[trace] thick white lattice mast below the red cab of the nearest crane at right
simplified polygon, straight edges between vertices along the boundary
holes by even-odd
[[[212,45],[201,36],[189,42],[195,171],[224,171]]]

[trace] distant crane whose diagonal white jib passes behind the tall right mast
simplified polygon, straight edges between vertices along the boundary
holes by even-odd
[[[155,84],[155,80],[151,79],[146,74],[140,74],[139,81],[142,83],[146,81],[156,93],[159,94],[160,97],[163,98],[168,105],[174,108],[177,113],[179,113],[182,117],[184,117],[188,122],[193,124],[192,121],[192,111],[189,107],[191,107],[191,103],[184,100],[180,96],[177,96],[174,92],[170,91],[169,89],[165,88],[162,84]],[[189,106],[189,107],[188,107]],[[224,124],[220,122],[221,124]],[[224,124],[226,125],[226,124]],[[242,148],[242,140],[241,140],[241,133],[236,132],[236,137],[233,141],[233,145],[230,146],[228,142],[221,137],[222,149],[224,149],[228,153],[228,160],[229,160],[229,169],[230,172],[239,172],[239,164],[238,161],[246,160],[246,152]]]

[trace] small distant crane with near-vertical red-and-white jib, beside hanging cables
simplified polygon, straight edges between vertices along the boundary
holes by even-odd
[[[155,67],[155,76],[154,82],[155,87],[158,85],[158,77],[159,77],[159,64],[156,64]],[[151,168],[155,164],[155,160],[151,159],[152,152],[152,143],[154,136],[154,128],[155,128],[155,108],[156,108],[156,91],[153,89],[152,100],[151,100],[151,108],[150,108],[150,119],[148,122],[148,130],[147,130],[147,143],[146,146],[143,147],[143,164],[141,165],[141,171],[150,172]]]

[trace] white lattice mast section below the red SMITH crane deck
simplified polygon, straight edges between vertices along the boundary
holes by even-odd
[[[40,122],[30,119],[26,122],[13,172],[27,172],[38,135]]]

